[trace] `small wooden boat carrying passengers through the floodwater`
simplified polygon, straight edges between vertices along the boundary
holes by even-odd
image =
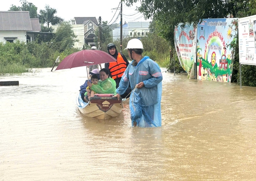
[[[113,97],[113,94],[94,94],[88,103],[82,100],[81,94],[76,96],[79,111],[88,117],[109,119],[118,116],[123,109],[122,100]]]

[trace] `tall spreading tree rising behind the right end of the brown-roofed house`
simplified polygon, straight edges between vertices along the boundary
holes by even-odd
[[[46,5],[44,7],[44,10],[40,10],[40,14],[38,15],[39,17],[39,22],[41,24],[46,23],[47,27],[49,28],[50,24],[51,25],[55,25],[55,24],[60,24],[62,23],[64,20],[58,16],[55,16],[55,14],[57,13],[57,10],[54,8],[50,8],[49,5]]]

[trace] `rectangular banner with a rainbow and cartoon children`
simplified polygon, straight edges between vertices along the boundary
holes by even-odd
[[[235,18],[203,19],[197,27],[197,79],[231,82]]]

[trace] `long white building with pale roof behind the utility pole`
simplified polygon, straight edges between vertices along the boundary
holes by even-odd
[[[123,37],[136,36],[144,37],[149,32],[149,24],[151,21],[145,22],[128,22],[122,26]],[[113,41],[120,39],[120,27],[113,29]]]

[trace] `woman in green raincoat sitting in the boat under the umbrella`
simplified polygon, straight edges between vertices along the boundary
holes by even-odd
[[[88,86],[96,93],[99,94],[114,94],[116,95],[116,82],[112,78],[108,78],[109,73],[106,68],[99,71],[99,80],[97,85],[88,82]],[[86,100],[85,100],[86,101]],[[87,100],[88,101],[88,100]]]

